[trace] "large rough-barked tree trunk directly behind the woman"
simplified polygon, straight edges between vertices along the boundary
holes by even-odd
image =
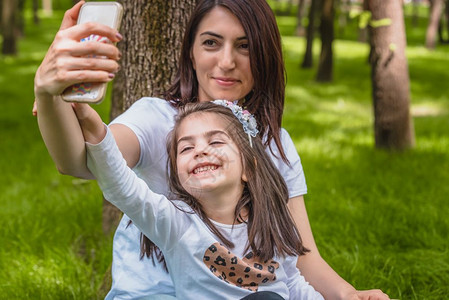
[[[111,120],[136,100],[163,92],[175,75],[184,28],[196,0],[121,1],[124,15],[118,44],[121,69],[114,79]],[[103,202],[103,230],[114,229],[121,213]]]

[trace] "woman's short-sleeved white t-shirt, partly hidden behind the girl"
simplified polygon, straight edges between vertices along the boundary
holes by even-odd
[[[140,143],[140,159],[133,171],[156,193],[168,195],[166,140],[173,128],[177,110],[159,98],[142,98],[111,124],[129,127]],[[290,166],[278,155],[272,142],[273,156],[267,153],[283,176],[290,198],[307,193],[307,186],[295,145],[287,131],[281,130],[281,142]],[[124,215],[113,241],[112,287],[106,299],[136,299],[154,294],[175,296],[172,280],[163,267],[146,256],[140,259],[140,230]]]

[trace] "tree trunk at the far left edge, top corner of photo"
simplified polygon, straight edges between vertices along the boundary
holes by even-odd
[[[5,55],[17,54],[16,16],[18,10],[17,0],[2,1],[2,53]]]

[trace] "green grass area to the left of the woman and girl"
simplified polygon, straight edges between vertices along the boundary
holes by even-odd
[[[0,57],[0,294],[95,299],[112,260],[95,182],[62,176],[32,116],[33,78],[62,14],[26,26],[19,56]],[[27,22],[31,22],[27,19]],[[107,115],[108,101],[98,106]]]

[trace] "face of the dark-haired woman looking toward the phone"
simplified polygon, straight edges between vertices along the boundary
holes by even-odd
[[[215,7],[200,22],[191,56],[200,102],[240,100],[252,90],[248,38],[226,8]]]

